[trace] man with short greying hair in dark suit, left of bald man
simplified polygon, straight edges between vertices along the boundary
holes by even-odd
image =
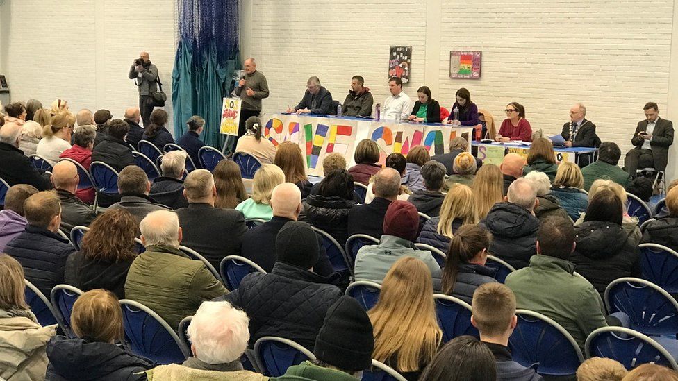
[[[188,207],[176,210],[183,244],[219,269],[224,257],[240,255],[240,242],[247,232],[245,217],[237,210],[214,207],[217,188],[212,173],[206,169],[188,173],[183,187]]]

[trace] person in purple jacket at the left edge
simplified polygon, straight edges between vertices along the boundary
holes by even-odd
[[[8,189],[5,194],[5,205],[0,210],[0,253],[14,237],[20,235],[28,221],[24,217],[24,201],[38,193],[33,185],[17,184]]]

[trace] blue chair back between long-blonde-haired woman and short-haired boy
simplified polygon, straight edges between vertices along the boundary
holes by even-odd
[[[438,325],[443,330],[443,343],[458,336],[480,337],[478,329],[471,324],[471,306],[454,296],[434,294]]]

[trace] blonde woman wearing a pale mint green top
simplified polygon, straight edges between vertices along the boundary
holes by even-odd
[[[273,208],[271,208],[271,194],[276,185],[285,183],[285,173],[275,164],[262,164],[256,173],[254,173],[254,182],[252,183],[252,196],[239,203],[235,210],[240,210],[245,214],[245,219],[265,219],[273,218]]]

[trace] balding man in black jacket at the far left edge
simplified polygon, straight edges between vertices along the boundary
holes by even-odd
[[[16,123],[9,122],[0,127],[0,178],[11,187],[28,184],[38,190],[51,189],[49,176],[33,167],[31,159],[19,149],[21,129]]]

